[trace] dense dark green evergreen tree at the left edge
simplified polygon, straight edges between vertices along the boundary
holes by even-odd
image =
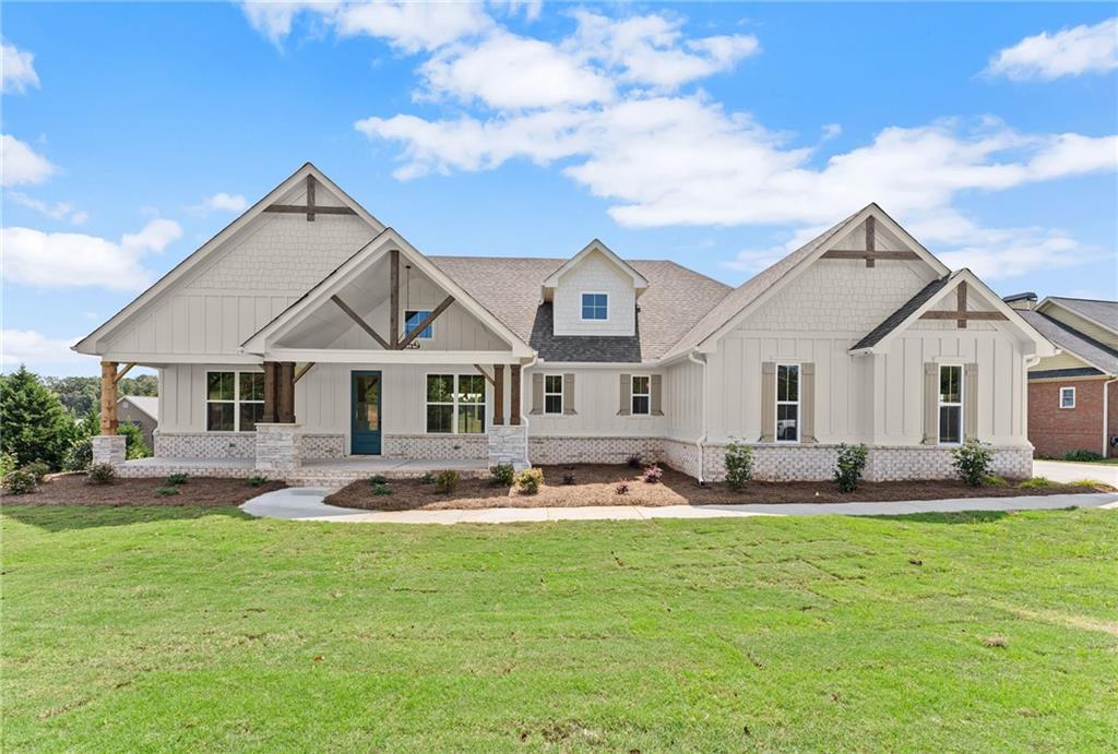
[[[58,395],[34,372],[20,365],[18,372],[0,376],[0,450],[20,466],[42,460],[57,469],[74,435],[74,420]]]

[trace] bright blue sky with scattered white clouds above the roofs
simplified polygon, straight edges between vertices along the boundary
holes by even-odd
[[[2,355],[314,162],[432,255],[731,285],[877,201],[1001,295],[1118,298],[1110,3],[4,3]]]

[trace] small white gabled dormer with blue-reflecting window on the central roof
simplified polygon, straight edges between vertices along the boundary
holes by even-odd
[[[594,239],[543,281],[552,335],[635,335],[636,299],[648,280]]]

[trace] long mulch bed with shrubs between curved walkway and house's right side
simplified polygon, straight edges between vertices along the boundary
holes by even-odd
[[[730,503],[850,503],[888,500],[934,500],[954,497],[1017,497],[1021,495],[1063,495],[1110,491],[1109,487],[1053,485],[1022,489],[1016,485],[968,487],[961,481],[875,481],[862,483],[856,493],[842,494],[832,481],[754,481],[740,493],[724,484],[700,487],[691,477],[664,468],[661,484],[641,481],[641,473],[627,466],[544,466],[543,487],[537,495],[520,495],[515,489],[494,487],[484,479],[463,479],[449,495],[418,479],[389,480],[391,495],[373,495],[367,481],[354,481],[326,497],[329,505],[367,510],[438,510],[447,508],[532,508],[591,505],[726,505]],[[575,484],[563,485],[565,474],[575,475]],[[625,495],[616,493],[618,480],[629,484]]]

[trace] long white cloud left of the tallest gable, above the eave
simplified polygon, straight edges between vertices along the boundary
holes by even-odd
[[[182,236],[173,220],[155,219],[117,242],[85,233],[47,233],[31,228],[4,228],[3,277],[40,288],[101,286],[140,290],[152,279],[143,267],[149,254],[161,254]]]

